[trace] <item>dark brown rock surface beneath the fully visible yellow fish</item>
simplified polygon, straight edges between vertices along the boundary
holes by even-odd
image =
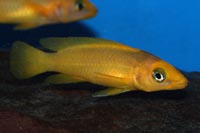
[[[185,73],[185,90],[129,92],[93,98],[88,83],[48,85],[48,75],[17,80],[0,53],[3,132],[200,132],[200,73]]]

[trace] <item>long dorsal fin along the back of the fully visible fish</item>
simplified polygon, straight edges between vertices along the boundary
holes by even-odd
[[[124,45],[114,42],[114,41],[109,41],[109,40],[100,39],[100,38],[89,38],[89,37],[67,37],[67,38],[50,37],[50,38],[41,39],[40,43],[44,48],[47,48],[53,51],[59,51],[67,47],[84,45],[84,44],[120,45],[124,47]]]

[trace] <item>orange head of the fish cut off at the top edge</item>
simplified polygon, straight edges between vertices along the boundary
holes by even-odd
[[[63,23],[91,18],[97,13],[96,7],[89,0],[67,0],[61,6],[56,14]]]

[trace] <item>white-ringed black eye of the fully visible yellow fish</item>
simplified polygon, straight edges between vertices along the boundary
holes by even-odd
[[[165,71],[161,68],[157,68],[153,71],[152,77],[157,82],[163,82],[166,79]]]

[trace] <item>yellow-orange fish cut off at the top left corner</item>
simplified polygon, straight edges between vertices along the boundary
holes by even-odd
[[[31,29],[54,23],[68,23],[96,15],[88,0],[0,0],[0,23]]]

